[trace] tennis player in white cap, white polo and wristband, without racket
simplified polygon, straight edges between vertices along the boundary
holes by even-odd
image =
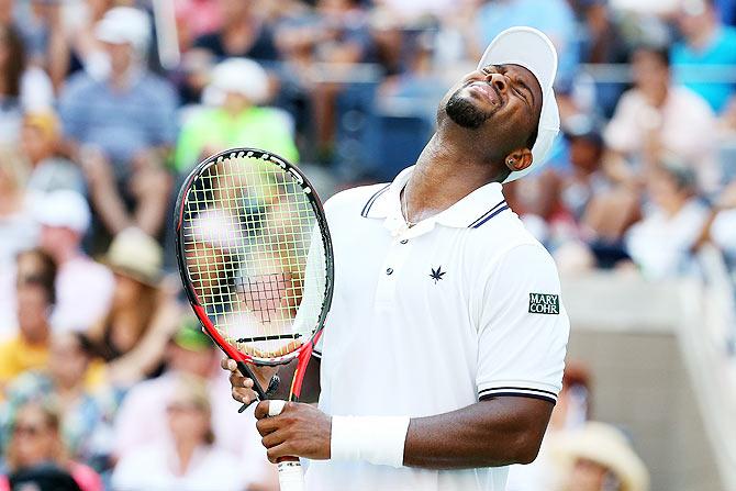
[[[304,386],[314,397],[319,372],[319,409],[255,413],[271,460],[312,459],[309,489],[498,491],[505,466],[534,460],[569,324],[555,265],[501,183],[553,144],[556,69],[544,34],[504,31],[441,102],[414,167],[327,202],[335,292]]]

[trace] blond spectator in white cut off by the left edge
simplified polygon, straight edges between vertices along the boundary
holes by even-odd
[[[0,147],[0,270],[9,271],[15,255],[33,247],[38,227],[33,222],[32,200],[25,192],[27,169],[12,148]]]

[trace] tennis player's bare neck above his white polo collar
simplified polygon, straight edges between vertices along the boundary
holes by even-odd
[[[419,222],[441,213],[476,189],[500,180],[498,166],[468,152],[478,143],[466,140],[465,135],[443,137],[439,132],[432,136],[406,182],[408,220]]]

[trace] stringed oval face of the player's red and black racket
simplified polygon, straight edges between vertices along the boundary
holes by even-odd
[[[274,163],[218,160],[183,203],[186,268],[202,306],[243,353],[274,358],[314,333],[324,243],[300,182]]]

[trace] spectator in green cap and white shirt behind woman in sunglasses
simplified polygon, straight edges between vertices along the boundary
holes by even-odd
[[[115,419],[118,455],[133,453],[166,438],[166,404],[182,376],[196,376],[207,383],[214,415],[212,425],[215,443],[238,455],[250,482],[267,486],[272,469],[266,460],[255,427],[246,425],[242,432],[232,431],[234,425],[242,422],[243,415],[230,398],[227,380],[222,377],[222,370],[216,368],[220,351],[191,315],[187,315],[180,325],[167,346],[167,369],[164,375],[136,384],[123,400]]]

